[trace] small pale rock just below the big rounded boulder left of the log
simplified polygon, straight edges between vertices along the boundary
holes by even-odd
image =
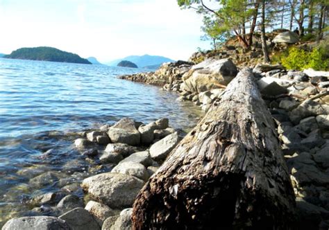
[[[90,200],[85,206],[85,210],[89,211],[94,219],[99,223],[99,226],[103,225],[103,222],[110,216],[119,214],[118,211],[110,209],[110,207],[99,202],[94,202]]]

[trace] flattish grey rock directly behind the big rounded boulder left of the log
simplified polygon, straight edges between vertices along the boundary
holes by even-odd
[[[122,173],[130,176],[140,178],[144,181],[149,179],[149,173],[142,163],[135,163],[131,161],[119,163],[111,172]]]

